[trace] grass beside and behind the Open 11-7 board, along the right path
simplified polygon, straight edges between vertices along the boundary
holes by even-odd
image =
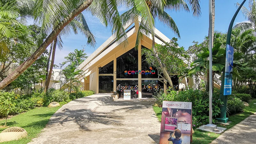
[[[227,129],[233,127],[234,125],[240,123],[241,121],[243,121],[246,117],[252,115],[253,113],[256,112],[256,105],[253,104],[256,103],[256,99],[252,99],[249,103],[249,107],[245,107],[244,108],[244,112],[243,113],[239,113],[236,115],[232,115],[229,116],[228,119],[229,121],[231,121],[232,123],[230,123],[229,125],[220,125],[217,124],[219,127],[225,127]],[[153,107],[156,116],[158,118],[159,121],[161,121],[161,116],[162,116],[162,108],[159,107]],[[195,133],[193,134],[193,142],[192,144],[209,144],[212,142],[212,140],[216,139],[217,137],[219,137],[220,134],[216,134],[213,132],[204,132],[201,130],[195,130]]]

